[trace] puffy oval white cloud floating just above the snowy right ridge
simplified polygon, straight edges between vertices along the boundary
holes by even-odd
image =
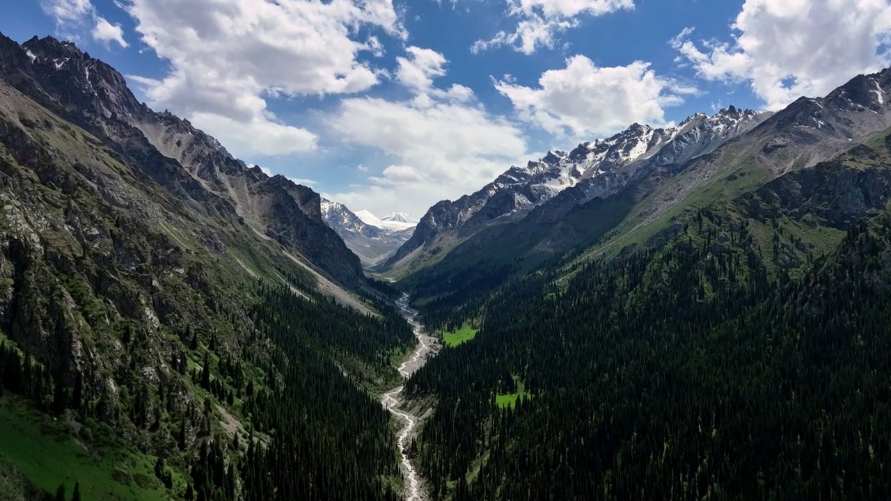
[[[537,87],[498,80],[495,88],[511,99],[520,119],[581,139],[607,136],[633,122],[664,125],[664,109],[697,92],[658,77],[648,62],[599,68],[584,55],[569,58],[564,69],[545,71]]]

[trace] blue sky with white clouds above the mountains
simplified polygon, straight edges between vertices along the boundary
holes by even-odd
[[[420,218],[548,150],[891,66],[891,0],[22,0],[154,110],[354,211]]]

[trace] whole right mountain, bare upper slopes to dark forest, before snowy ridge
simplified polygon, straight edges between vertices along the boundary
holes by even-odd
[[[432,495],[888,497],[889,74],[576,183],[400,280],[432,332],[475,333],[405,383],[437,402]]]

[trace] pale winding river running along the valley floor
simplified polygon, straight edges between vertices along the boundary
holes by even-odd
[[[403,379],[407,379],[414,371],[420,369],[427,363],[429,357],[436,355],[437,351],[439,351],[438,338],[424,332],[424,326],[416,319],[418,312],[408,306],[408,300],[408,294],[404,294],[402,298],[396,301],[396,306],[399,307],[399,311],[402,313],[402,316],[405,316],[408,324],[412,325],[412,332],[418,338],[418,346],[415,347],[409,357],[405,358],[402,365],[399,365],[399,374],[402,375]],[[421,474],[418,473],[418,470],[412,464],[412,460],[406,454],[409,445],[417,434],[418,423],[421,421],[421,418],[418,415],[414,415],[412,411],[402,407],[402,389],[403,386],[399,386],[382,394],[380,402],[402,422],[402,427],[396,431],[396,442],[399,446],[402,473],[405,477],[405,501],[428,501],[429,495],[424,489]]]

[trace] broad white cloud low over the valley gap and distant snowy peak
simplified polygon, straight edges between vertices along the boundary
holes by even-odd
[[[426,94],[424,94],[426,95]],[[385,152],[393,164],[332,200],[375,213],[423,214],[431,202],[477,191],[512,163],[525,165],[527,144],[516,124],[482,107],[429,100],[344,100],[328,118],[350,144]]]

